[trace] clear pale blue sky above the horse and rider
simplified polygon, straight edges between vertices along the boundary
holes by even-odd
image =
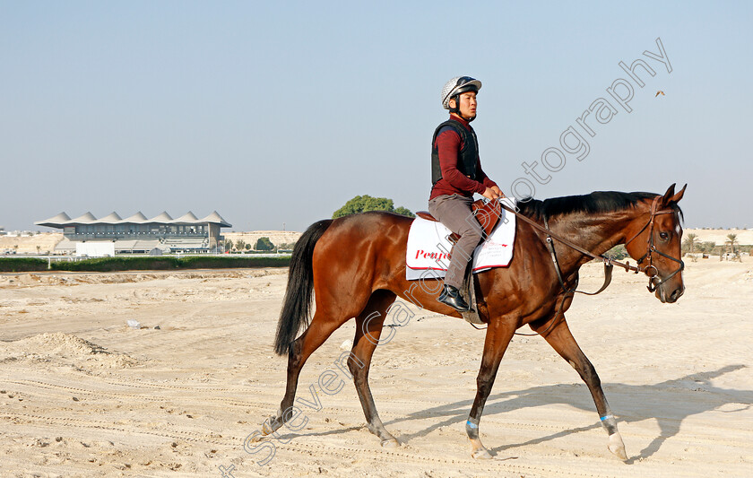
[[[364,194],[425,209],[439,91],[468,74],[506,193],[538,161],[538,198],[688,183],[686,227],[753,227],[753,8],[605,4],[0,1],[0,225],[217,210],[304,230]],[[657,38],[671,73],[642,55]],[[542,169],[637,58],[656,74],[638,70],[632,112]]]

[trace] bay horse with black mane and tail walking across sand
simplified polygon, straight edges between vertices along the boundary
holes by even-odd
[[[567,238],[594,255],[625,244],[639,270],[649,276],[649,291],[654,291],[662,302],[671,303],[685,291],[681,274],[684,265],[679,259],[682,229],[678,206],[685,187],[676,194],[674,189],[672,185],[664,195],[594,192],[544,201],[531,199],[519,203],[517,213],[533,222],[548,224],[552,236]],[[290,260],[288,286],[274,343],[275,352],[288,354],[287,387],[280,409],[264,422],[253,441],[263,439],[295,418],[293,401],[301,368],[335,329],[355,317],[356,335],[348,368],[368,430],[381,440],[383,447],[400,445],[379,419],[368,387],[371,356],[379,343],[388,309],[400,297],[423,309],[461,317],[437,301],[442,284],[438,279],[422,281],[422,287],[417,287],[416,281],[406,280],[406,243],[412,221],[394,213],[359,213],[315,222],[300,237]],[[481,413],[507,345],[518,328],[530,326],[584,380],[608,433],[610,452],[626,460],[625,445],[599,376],[578,347],[564,315],[572,303],[578,269],[592,257],[553,240],[557,256],[553,263],[545,245],[547,234],[540,228],[517,221],[510,265],[478,274],[477,309],[488,326],[476,379],[476,397],[465,427],[472,456],[491,457],[479,438]],[[309,324],[312,291],[316,311]],[[299,329],[306,325],[304,333],[296,338]]]

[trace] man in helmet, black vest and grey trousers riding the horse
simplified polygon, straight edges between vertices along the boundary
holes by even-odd
[[[497,183],[481,169],[479,142],[470,125],[476,118],[476,93],[480,88],[481,82],[470,76],[458,76],[446,83],[442,106],[450,110],[450,118],[437,126],[431,142],[433,187],[428,212],[460,236],[437,300],[460,312],[471,309],[459,289],[473,249],[483,235],[471,212],[473,193],[491,200],[503,197]]]

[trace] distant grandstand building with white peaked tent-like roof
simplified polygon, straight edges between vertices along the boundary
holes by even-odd
[[[161,252],[209,252],[217,248],[223,237],[221,228],[232,227],[216,211],[198,219],[188,212],[177,219],[168,213],[147,219],[143,213],[121,219],[117,213],[100,219],[85,213],[71,219],[66,213],[59,213],[44,221],[34,222],[62,230],[63,239],[55,247],[57,253],[71,253],[76,244],[82,242],[114,242],[115,252],[149,253],[155,249]]]

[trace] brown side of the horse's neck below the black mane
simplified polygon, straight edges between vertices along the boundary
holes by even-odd
[[[550,228],[554,233],[599,256],[625,241],[625,229],[640,214],[638,209],[616,213],[567,214],[550,220]],[[554,243],[559,265],[565,274],[576,272],[581,265],[592,259],[557,240]]]

